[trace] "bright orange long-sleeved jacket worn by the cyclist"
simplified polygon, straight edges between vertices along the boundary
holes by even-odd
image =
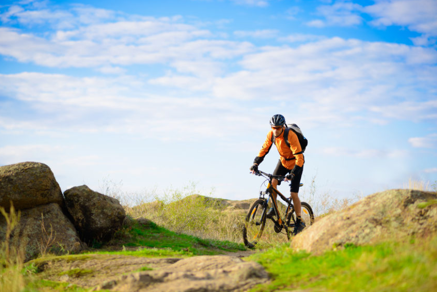
[[[264,156],[270,151],[273,144],[271,141],[272,135],[273,131],[270,130],[261,150],[259,151],[258,157],[255,158],[255,163],[260,164],[264,160]],[[302,152],[302,148],[298,136],[293,131],[288,131],[288,141],[290,142],[290,147],[285,143],[284,131],[282,131],[279,136],[275,137],[275,145],[279,152],[282,166],[287,169],[293,169],[295,165],[303,167],[305,163],[304,155],[302,153],[294,155],[294,153]]]

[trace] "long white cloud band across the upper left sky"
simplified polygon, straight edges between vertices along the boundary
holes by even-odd
[[[45,66],[94,67],[126,64],[161,63],[171,60],[193,59],[229,59],[253,50],[248,42],[227,40],[207,40],[207,31],[178,31],[169,25],[169,31],[146,35],[146,29],[137,29],[135,25],[114,23],[111,29],[101,33],[100,29],[87,27],[83,31],[58,32],[53,39],[44,39],[32,34],[23,34],[19,30],[0,28],[0,54],[11,56],[21,62],[35,62]],[[158,24],[159,25],[159,24]],[[153,26],[153,24],[151,24]],[[175,25],[178,27],[178,25]],[[122,27],[118,31],[116,27]],[[131,29],[131,30],[130,30]],[[175,29],[175,30],[173,30]],[[109,33],[110,31],[110,33]],[[141,33],[142,37],[136,35]],[[90,36],[99,36],[96,39]],[[136,37],[133,37],[136,36]]]

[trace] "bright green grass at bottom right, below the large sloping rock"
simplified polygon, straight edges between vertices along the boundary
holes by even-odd
[[[319,256],[281,245],[250,257],[272,277],[251,291],[436,291],[437,237],[420,243],[384,243]]]

